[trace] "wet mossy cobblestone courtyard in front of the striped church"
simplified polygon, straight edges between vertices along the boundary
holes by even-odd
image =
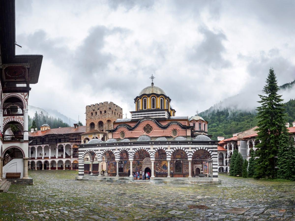
[[[295,220],[294,182],[220,175],[218,186],[117,184],[77,174],[29,171],[34,185],[0,193],[0,220]],[[245,209],[227,212],[235,207]]]

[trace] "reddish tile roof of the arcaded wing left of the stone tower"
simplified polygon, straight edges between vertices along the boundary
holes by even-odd
[[[36,133],[29,132],[30,137],[37,137],[37,136],[45,136],[49,134],[69,134],[69,133],[85,133],[86,126],[79,126],[77,128],[74,127],[61,127],[61,128],[54,128],[49,129],[46,131],[37,131]]]

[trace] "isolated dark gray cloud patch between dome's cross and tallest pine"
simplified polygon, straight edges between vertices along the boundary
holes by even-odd
[[[222,56],[226,52],[222,41],[227,40],[222,32],[214,33],[207,27],[199,28],[199,32],[204,35],[200,44],[194,46],[188,53],[191,62],[207,64],[213,68],[230,67],[231,63]]]

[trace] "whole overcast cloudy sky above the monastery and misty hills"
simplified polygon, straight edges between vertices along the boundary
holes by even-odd
[[[295,80],[295,1],[16,0],[16,54],[42,54],[29,104],[85,123],[85,106],[129,111],[150,85],[178,116]]]

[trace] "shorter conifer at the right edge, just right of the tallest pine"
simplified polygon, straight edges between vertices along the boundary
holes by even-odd
[[[293,138],[291,138],[293,140]],[[278,178],[295,180],[295,147],[289,140],[289,132],[284,127],[278,149]]]

